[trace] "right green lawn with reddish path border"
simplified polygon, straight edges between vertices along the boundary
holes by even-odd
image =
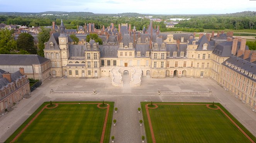
[[[146,104],[150,103],[141,103],[147,143],[249,143],[251,141],[248,138],[256,141],[256,138],[219,103],[217,105],[221,109],[217,109],[217,106],[216,109],[210,109],[206,106],[207,103],[164,103],[169,105],[156,103],[155,109],[148,108],[149,115],[147,115]]]

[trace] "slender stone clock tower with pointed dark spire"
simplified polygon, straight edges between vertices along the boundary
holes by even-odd
[[[69,49],[68,49],[68,35],[65,33],[65,26],[61,20],[61,25],[59,27],[60,29],[60,35],[59,35],[59,48],[61,50],[61,67],[62,67],[62,76],[65,76],[66,74],[66,65],[68,64],[68,58],[69,58]]]

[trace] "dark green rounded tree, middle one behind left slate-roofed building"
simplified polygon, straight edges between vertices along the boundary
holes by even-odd
[[[19,50],[26,50],[31,54],[36,54],[37,50],[34,46],[34,37],[29,33],[21,33],[17,39],[17,48]]]

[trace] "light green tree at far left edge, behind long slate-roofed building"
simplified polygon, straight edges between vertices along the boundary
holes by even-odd
[[[11,32],[7,28],[0,30],[0,54],[10,54],[16,48],[17,43]]]

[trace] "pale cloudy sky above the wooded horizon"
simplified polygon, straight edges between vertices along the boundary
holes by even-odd
[[[0,0],[0,12],[219,14],[256,11],[256,0]]]

